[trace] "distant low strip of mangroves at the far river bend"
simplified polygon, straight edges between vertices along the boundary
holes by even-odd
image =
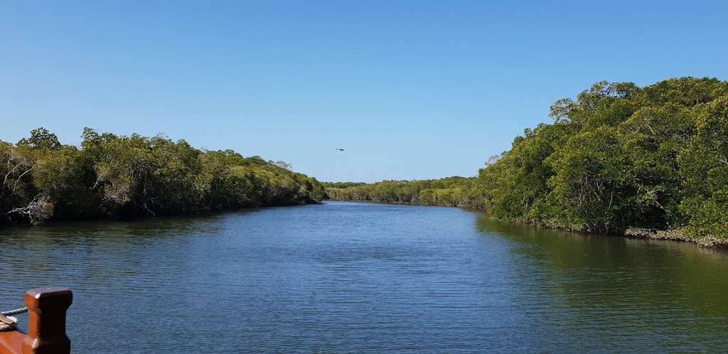
[[[381,181],[373,184],[324,183],[332,200],[392,202],[421,205],[478,205],[475,177],[448,177],[425,181]]]

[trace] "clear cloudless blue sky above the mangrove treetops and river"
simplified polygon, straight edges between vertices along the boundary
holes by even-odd
[[[728,1],[0,0],[0,140],[92,127],[321,181],[475,176],[594,82],[728,79],[727,19]]]

